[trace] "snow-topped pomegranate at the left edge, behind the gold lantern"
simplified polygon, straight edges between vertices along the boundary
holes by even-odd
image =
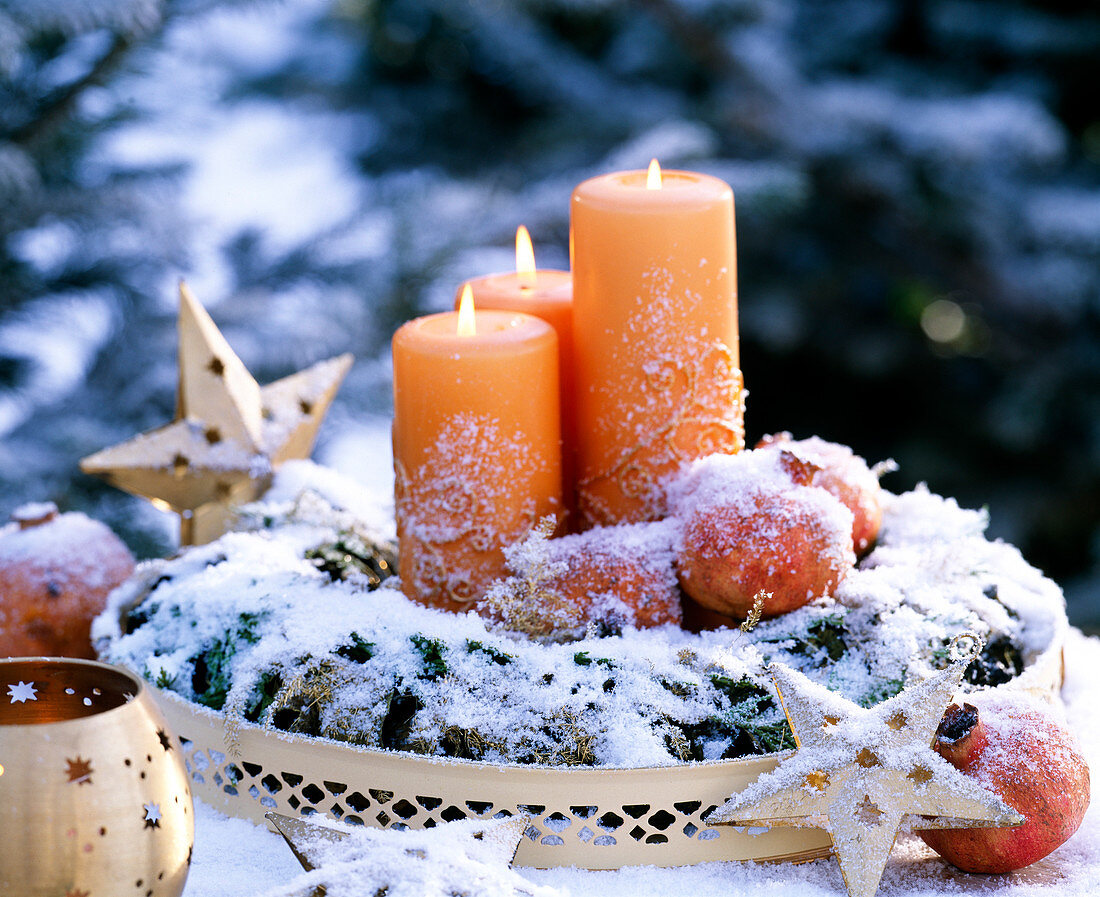
[[[89,631],[134,569],[108,526],[43,502],[0,528],[0,657],[95,657]]]

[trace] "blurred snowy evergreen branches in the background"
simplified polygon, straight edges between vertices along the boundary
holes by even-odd
[[[0,0],[0,514],[170,550],[76,462],[170,419],[179,276],[261,383],[358,355],[354,468],[394,328],[658,156],[736,194],[749,440],[988,505],[1100,630],[1098,85],[1089,0]]]

